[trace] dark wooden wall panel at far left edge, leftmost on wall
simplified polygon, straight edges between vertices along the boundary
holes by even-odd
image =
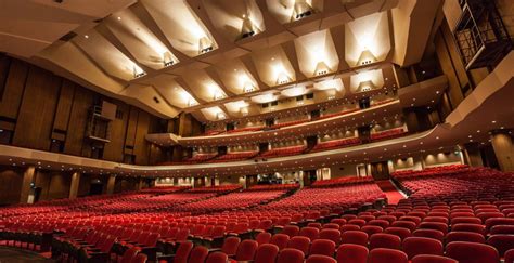
[[[2,117],[16,119],[22,96],[25,89],[25,80],[28,75],[28,64],[18,60],[12,60],[3,96],[0,102],[0,115]]]

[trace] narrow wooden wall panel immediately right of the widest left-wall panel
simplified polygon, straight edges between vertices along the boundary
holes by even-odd
[[[59,95],[57,110],[55,110],[55,118],[53,120],[54,130],[68,130],[69,113],[72,111],[74,94],[75,83],[64,79]]]

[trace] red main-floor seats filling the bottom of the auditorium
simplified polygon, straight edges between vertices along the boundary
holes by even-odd
[[[514,173],[449,166],[393,177],[410,193],[397,205],[360,179],[12,206],[0,209],[0,239],[60,262],[512,261]]]

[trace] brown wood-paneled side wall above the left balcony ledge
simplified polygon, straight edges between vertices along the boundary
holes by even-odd
[[[102,159],[123,162],[125,154],[134,155],[137,165],[168,159],[166,150],[152,150],[144,139],[150,132],[166,132],[166,120],[0,54],[0,129],[13,133],[14,146],[50,150],[52,140],[57,140],[64,142],[63,154],[91,157],[93,142],[85,139],[86,128],[92,106],[102,101],[118,109]],[[195,120],[189,118],[184,126],[192,132]]]

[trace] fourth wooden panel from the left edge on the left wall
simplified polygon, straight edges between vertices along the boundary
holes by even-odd
[[[86,89],[77,88],[75,90],[75,98],[72,105],[69,118],[72,122],[66,133],[64,143],[64,153],[69,155],[82,154],[83,135],[86,133],[86,124],[88,122],[89,108],[93,103],[93,93]]]

